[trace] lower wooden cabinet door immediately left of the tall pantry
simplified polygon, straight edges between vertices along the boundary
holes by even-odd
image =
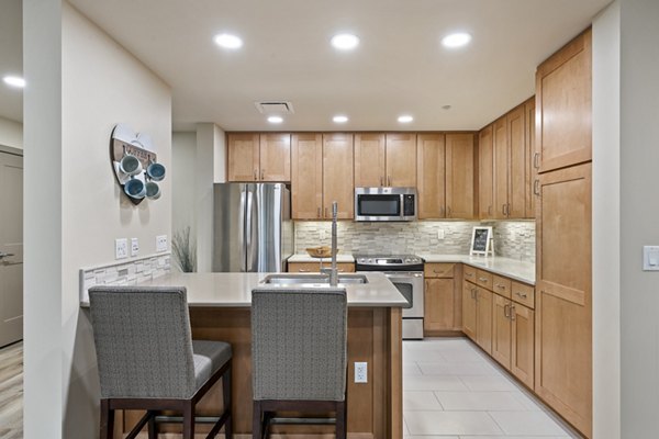
[[[511,372],[529,389],[534,387],[534,312],[513,304],[511,312]]]

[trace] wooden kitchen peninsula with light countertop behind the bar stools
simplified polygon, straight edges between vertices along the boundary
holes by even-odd
[[[182,285],[188,290],[192,337],[224,340],[233,349],[233,416],[237,438],[252,437],[252,290],[268,273],[170,273],[141,285]],[[303,275],[303,274],[301,274]],[[381,273],[366,273],[366,283],[347,283],[348,432],[353,438],[402,438],[401,306],[406,302]],[[340,282],[340,281],[339,281]],[[322,288],[322,286],[319,286]],[[85,300],[82,306],[86,306]],[[368,382],[354,382],[355,361],[368,362]],[[213,413],[222,401],[213,389],[199,408]],[[127,413],[123,428],[139,419]],[[176,427],[171,427],[176,428]],[[204,431],[199,426],[199,431]],[[332,426],[276,426],[273,431],[312,438]],[[288,436],[287,436],[288,437]]]

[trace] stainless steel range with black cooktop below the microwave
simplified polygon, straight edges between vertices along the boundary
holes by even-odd
[[[423,259],[414,255],[357,255],[357,271],[381,271],[405,296],[403,339],[423,338]]]

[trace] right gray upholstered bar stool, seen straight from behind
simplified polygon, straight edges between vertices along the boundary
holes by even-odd
[[[345,289],[254,290],[253,438],[267,437],[269,425],[283,421],[277,412],[334,412],[336,438],[345,439],[346,350]]]

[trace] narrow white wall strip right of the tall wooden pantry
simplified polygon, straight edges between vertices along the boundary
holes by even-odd
[[[593,21],[593,436],[621,436],[621,11]]]

